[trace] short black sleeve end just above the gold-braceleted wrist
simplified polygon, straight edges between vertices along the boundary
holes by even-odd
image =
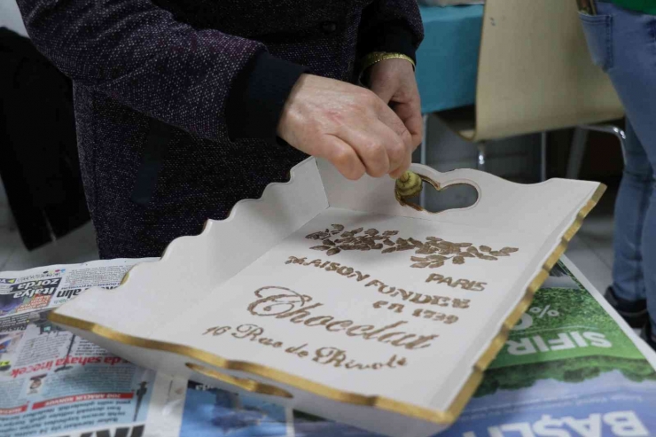
[[[358,32],[358,54],[372,51],[402,53],[417,60],[424,39],[417,0],[374,0],[363,11]]]

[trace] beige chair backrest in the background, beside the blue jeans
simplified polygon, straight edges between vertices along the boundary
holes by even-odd
[[[486,1],[469,139],[610,121],[623,113],[610,79],[590,59],[574,0]]]

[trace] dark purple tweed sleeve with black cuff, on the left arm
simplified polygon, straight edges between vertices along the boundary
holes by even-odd
[[[27,33],[78,85],[207,139],[275,141],[305,71],[262,43],[176,21],[151,0],[18,0]]]

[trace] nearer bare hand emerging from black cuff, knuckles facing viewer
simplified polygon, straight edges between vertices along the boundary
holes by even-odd
[[[414,150],[403,121],[371,90],[312,74],[294,85],[277,134],[352,180],[364,173],[397,178]]]

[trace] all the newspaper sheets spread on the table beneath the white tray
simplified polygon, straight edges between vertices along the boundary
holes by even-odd
[[[52,308],[152,260],[0,273],[0,437],[374,436],[156,375],[48,323]],[[564,258],[441,435],[656,435],[656,354],[609,309]]]

